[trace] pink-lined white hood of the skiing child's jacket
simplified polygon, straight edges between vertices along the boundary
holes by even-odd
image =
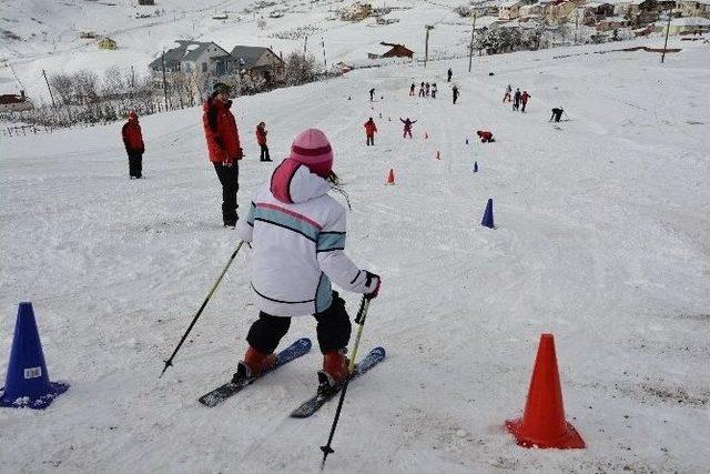
[[[290,158],[282,161],[271,177],[271,193],[286,204],[306,202],[328,191],[331,185],[326,180]]]

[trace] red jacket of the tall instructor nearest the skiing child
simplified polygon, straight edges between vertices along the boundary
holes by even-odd
[[[232,101],[224,103],[210,98],[202,108],[204,137],[207,140],[210,161],[213,163],[231,163],[242,159],[240,133],[230,111],[231,105]]]

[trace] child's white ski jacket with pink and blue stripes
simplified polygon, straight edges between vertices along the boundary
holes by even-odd
[[[252,288],[261,311],[274,316],[323,312],[333,302],[331,280],[355,293],[375,290],[376,279],[368,282],[344,253],[345,208],[329,190],[323,178],[286,159],[240,220],[239,236],[252,242]]]

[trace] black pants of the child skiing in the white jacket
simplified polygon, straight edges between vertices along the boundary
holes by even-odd
[[[336,291],[333,292],[333,304],[313,316],[317,321],[316,332],[322,353],[347,346],[351,340],[352,324],[347,311],[345,311],[345,301],[338,296]],[[288,332],[288,326],[291,326],[291,317],[272,316],[260,311],[258,320],[254,321],[248,330],[246,342],[258,352],[271,354]]]

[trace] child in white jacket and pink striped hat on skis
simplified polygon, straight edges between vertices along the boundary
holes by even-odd
[[[307,314],[317,322],[323,353],[318,392],[343,384],[348,376],[345,353],[352,325],[331,279],[372,300],[381,278],[356,266],[344,252],[346,214],[328,195],[339,184],[332,168],[333,150],[325,133],[301,132],[240,222],[240,239],[253,249],[252,289],[260,312],[234,380],[255,379],[274,366],[274,351],[288,332],[291,317]]]

